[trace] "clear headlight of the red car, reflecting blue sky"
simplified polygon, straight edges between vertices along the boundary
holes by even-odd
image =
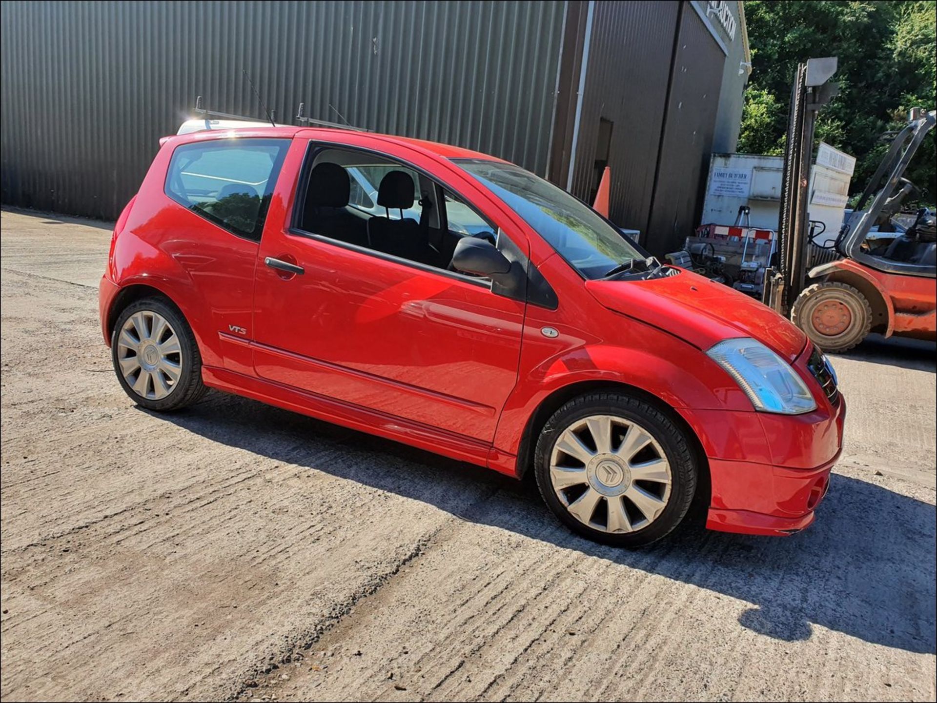
[[[816,410],[807,384],[784,359],[753,339],[727,339],[706,352],[765,413],[798,415]]]

